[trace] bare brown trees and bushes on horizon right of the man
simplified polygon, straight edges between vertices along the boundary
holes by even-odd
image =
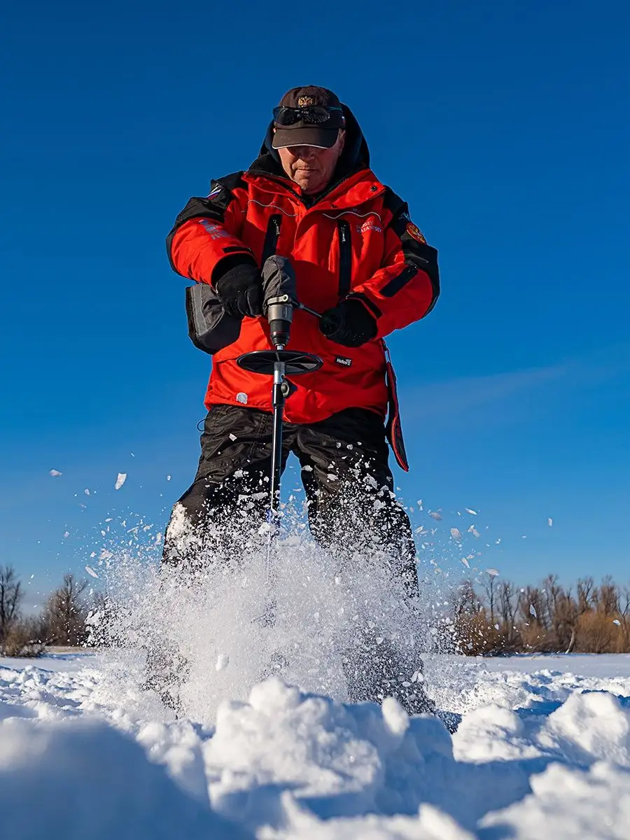
[[[557,575],[518,587],[488,570],[480,585],[465,580],[443,619],[463,654],[621,654],[630,652],[630,585],[610,575],[565,587]]]

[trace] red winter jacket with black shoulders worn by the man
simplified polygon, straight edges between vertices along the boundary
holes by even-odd
[[[234,265],[239,255],[249,261],[253,255],[261,266],[279,254],[291,259],[297,297],[307,307],[323,312],[356,297],[375,316],[376,338],[349,348],[325,338],[317,318],[294,313],[288,349],[318,355],[323,367],[292,380],[297,390],[285,410],[290,423],[314,423],[349,407],[385,417],[381,339],[423,318],[438,297],[437,251],[410,221],[407,204],[365,165],[365,141],[360,151],[363,160],[356,153],[349,174],[313,202],[265,150],[248,171],[212,181],[206,198],[192,198],[167,240],[171,265],[191,280],[212,284],[222,261]],[[229,403],[271,411],[270,378],[236,365],[239,355],[270,348],[266,319],[244,318],[239,339],[213,356],[207,407]]]

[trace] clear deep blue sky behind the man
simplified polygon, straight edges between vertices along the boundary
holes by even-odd
[[[474,520],[480,568],[627,578],[628,24],[607,2],[13,3],[0,562],[35,597],[90,562],[105,518],[163,526],[208,372],[165,234],[255,158],[288,87],[321,84],[440,252],[438,306],[390,344],[397,485],[442,510],[445,567],[448,528]]]

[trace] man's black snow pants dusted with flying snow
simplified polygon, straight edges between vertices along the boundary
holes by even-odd
[[[272,415],[215,405],[207,413],[202,454],[192,485],[166,531],[163,562],[197,564],[203,549],[234,556],[234,541],[266,521],[269,509]],[[391,572],[417,596],[415,545],[407,513],[393,494],[381,418],[349,408],[318,423],[285,423],[282,468],[292,452],[302,468],[309,528],[324,549],[384,549]],[[192,533],[186,539],[182,534]],[[214,540],[214,543],[212,543]],[[223,547],[221,541],[223,540]]]

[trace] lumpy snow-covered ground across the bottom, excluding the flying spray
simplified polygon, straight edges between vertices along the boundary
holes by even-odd
[[[630,656],[426,670],[452,737],[276,678],[176,721],[112,654],[0,659],[0,836],[630,837]]]

